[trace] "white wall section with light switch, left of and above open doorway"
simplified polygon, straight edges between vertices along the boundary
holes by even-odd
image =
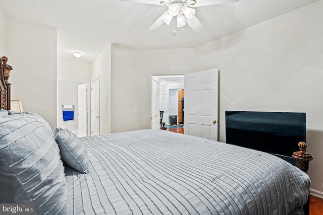
[[[112,132],[149,128],[149,75],[195,71],[196,59],[194,48],[135,50],[113,44]]]

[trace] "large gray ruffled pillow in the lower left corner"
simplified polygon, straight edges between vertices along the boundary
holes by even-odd
[[[35,214],[66,214],[59,148],[35,116],[0,117],[0,167],[1,203],[32,203]]]

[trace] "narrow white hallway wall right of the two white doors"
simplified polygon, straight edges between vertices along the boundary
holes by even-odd
[[[92,61],[91,63],[91,81],[99,77],[99,129],[100,134],[111,133],[111,44]],[[107,98],[107,99],[106,99]],[[107,105],[105,108],[105,101]]]

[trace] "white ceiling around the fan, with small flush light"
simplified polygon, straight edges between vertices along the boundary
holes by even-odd
[[[189,26],[176,29],[163,24],[154,32],[150,25],[167,10],[166,6],[120,0],[0,0],[9,19],[58,30],[58,57],[91,62],[109,43],[135,49],[198,47],[249,26],[277,17],[318,0],[240,0],[238,3],[198,7],[195,16],[205,30]],[[198,0],[197,0],[198,2]]]

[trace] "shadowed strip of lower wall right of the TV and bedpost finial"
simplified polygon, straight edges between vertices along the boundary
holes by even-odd
[[[311,193],[323,198],[323,130],[306,130],[306,152],[314,160],[309,162],[308,175],[311,178]]]

